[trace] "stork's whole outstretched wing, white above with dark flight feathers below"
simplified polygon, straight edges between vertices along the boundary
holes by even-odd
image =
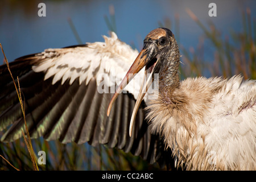
[[[165,150],[163,140],[150,134],[143,110],[145,102],[139,108],[135,132],[129,137],[138,80],[126,86],[127,93],[117,98],[107,117],[113,90],[138,51],[114,33],[104,39],[105,42],[46,49],[10,63],[14,78],[19,77],[31,137],[43,136],[63,143],[89,142],[92,146],[101,143],[141,155],[150,163],[173,165],[171,151]],[[0,67],[0,74],[0,130],[7,130],[1,140],[9,142],[22,136],[24,121],[6,65]]]

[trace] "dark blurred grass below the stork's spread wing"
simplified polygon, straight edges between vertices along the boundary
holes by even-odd
[[[157,164],[150,165],[139,156],[126,154],[121,150],[92,147],[88,143],[63,144],[59,141],[31,139],[37,156],[46,151],[46,165],[38,164],[39,170],[156,170]],[[10,143],[1,143],[0,155],[20,170],[34,170],[23,138]],[[0,158],[0,170],[16,170]]]

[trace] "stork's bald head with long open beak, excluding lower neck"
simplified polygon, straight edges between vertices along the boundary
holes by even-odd
[[[172,32],[167,28],[156,28],[155,30],[152,30],[144,39],[141,52],[135,59],[134,63],[131,65],[129,71],[126,73],[125,78],[123,78],[121,84],[118,86],[114,96],[112,97],[112,100],[109,103],[108,115],[112,108],[113,102],[118,97],[118,94],[122,92],[122,90],[135,76],[135,74],[141,71],[143,67],[145,67],[144,78],[148,73],[150,73],[150,77],[147,78],[146,84],[144,84],[143,78],[143,84],[141,86],[141,90],[134,106],[133,115],[131,117],[129,131],[130,136],[139,105],[141,104],[147,89],[152,84],[152,81],[154,81],[154,73],[160,74],[163,72],[164,68],[169,65],[168,62],[170,61],[168,61],[168,58],[172,54],[172,49],[174,47],[172,44],[173,42],[177,44],[174,38],[174,34],[172,34]]]

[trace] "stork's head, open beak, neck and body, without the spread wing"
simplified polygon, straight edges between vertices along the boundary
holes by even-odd
[[[158,94],[147,103],[147,119],[151,131],[162,135],[176,155],[178,166],[185,164],[192,170],[255,170],[256,81],[234,76],[230,80],[199,77],[180,82],[179,58],[170,30],[151,31],[117,92],[132,79],[130,73],[146,66],[145,73],[156,73],[159,78]],[[151,78],[148,81],[152,82]],[[143,93],[137,98],[134,115],[142,98]]]

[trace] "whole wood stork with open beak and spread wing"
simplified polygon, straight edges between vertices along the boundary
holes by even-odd
[[[256,169],[254,80],[234,76],[180,82],[179,48],[167,28],[151,31],[140,53],[114,33],[104,38],[105,43],[46,49],[10,64],[20,84],[24,83],[32,137],[106,143],[134,150],[151,162],[168,163],[174,155],[177,166],[191,170]],[[144,77],[139,72],[143,67]],[[0,129],[13,123],[1,140],[9,141],[19,138],[24,126],[6,68],[2,66],[0,73],[1,88],[5,88],[0,95]],[[142,83],[134,81],[135,73],[143,77]],[[114,95],[108,93],[118,84],[112,77],[123,78]],[[146,92],[152,82],[158,86],[150,98]],[[129,93],[117,97],[124,89]]]

